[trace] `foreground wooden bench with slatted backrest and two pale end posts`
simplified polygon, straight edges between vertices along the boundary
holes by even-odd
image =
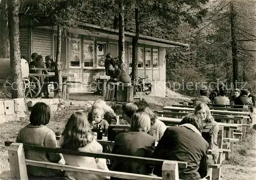
[[[82,173],[90,173],[97,174],[100,176],[111,176],[111,177],[119,177],[125,179],[179,179],[179,171],[178,171],[178,162],[177,161],[166,161],[159,159],[150,159],[150,158],[141,158],[136,156],[127,156],[127,155],[119,155],[119,154],[108,154],[108,153],[92,153],[92,152],[84,152],[84,151],[73,151],[68,149],[60,149],[60,148],[48,148],[42,146],[35,145],[27,145],[22,143],[11,143],[8,149],[9,154],[9,164],[10,164],[10,172],[12,179],[28,179],[27,167],[26,165],[36,166],[36,167],[45,167],[51,169],[59,169],[64,171],[73,171],[73,172],[82,172]],[[47,152],[56,152],[62,154],[71,154],[71,155],[79,155],[79,156],[90,156],[94,158],[103,158],[103,159],[112,159],[118,161],[131,161],[131,162],[139,162],[151,165],[162,165],[162,177],[152,176],[152,175],[142,175],[142,174],[134,174],[134,173],[125,173],[118,171],[106,171],[101,169],[92,169],[92,168],[84,168],[70,165],[61,165],[57,163],[50,162],[42,162],[42,161],[33,161],[25,159],[24,150],[35,150],[35,151],[47,151]],[[187,163],[182,163],[184,167],[187,166]]]

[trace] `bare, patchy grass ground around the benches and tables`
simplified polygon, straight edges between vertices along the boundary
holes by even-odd
[[[172,96],[172,92],[167,92]],[[173,94],[174,95],[174,94]],[[177,104],[181,101],[189,101],[190,97],[184,97],[178,94],[175,94],[173,98],[170,97],[155,97],[155,96],[146,96],[138,95],[145,99],[148,105],[152,109],[162,109],[163,106]],[[95,100],[102,98],[95,95],[85,95],[85,94],[76,94],[71,95],[70,100]],[[111,103],[110,103],[111,104]],[[54,132],[61,132],[71,114],[76,110],[60,110],[52,113],[50,123],[47,125]],[[255,109],[256,111],[256,109]],[[256,116],[256,114],[255,114]],[[254,116],[254,117],[255,117]],[[0,179],[9,179],[10,178],[10,168],[8,163],[8,147],[5,147],[5,141],[15,141],[17,133],[20,128],[24,127],[29,123],[29,118],[24,118],[22,120],[14,120],[12,122],[7,122],[0,124]],[[255,124],[255,119],[253,124]],[[236,161],[224,161],[222,165],[222,179],[223,180],[253,180],[256,179],[256,147],[255,147],[255,136],[252,137],[251,149],[245,154],[236,154],[233,155],[233,158]],[[238,148],[239,145],[234,145],[234,149]],[[242,144],[243,146],[243,144]],[[247,145],[245,145],[247,148]]]

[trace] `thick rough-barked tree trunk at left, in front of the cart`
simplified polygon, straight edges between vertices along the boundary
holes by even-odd
[[[12,98],[24,98],[22,61],[19,50],[19,0],[8,1],[8,25],[10,38],[10,65],[12,70]]]

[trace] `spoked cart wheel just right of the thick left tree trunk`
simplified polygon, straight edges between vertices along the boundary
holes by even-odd
[[[36,98],[41,92],[41,86],[39,80],[34,76],[29,76],[29,89],[26,93],[26,97]]]

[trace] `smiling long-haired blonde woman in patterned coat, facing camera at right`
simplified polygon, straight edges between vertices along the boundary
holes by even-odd
[[[219,157],[219,145],[217,143],[219,125],[210,114],[210,108],[203,102],[197,102],[194,114],[198,116],[202,124],[202,135],[209,134],[208,143],[209,148],[212,149],[213,153],[208,154],[208,164],[216,164]],[[207,136],[207,135],[206,135]]]

